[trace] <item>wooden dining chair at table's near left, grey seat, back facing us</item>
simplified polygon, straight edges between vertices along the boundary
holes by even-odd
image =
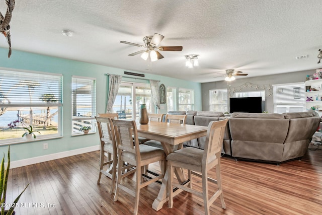
[[[137,214],[140,189],[164,177],[167,165],[166,154],[163,150],[158,148],[139,144],[135,121],[118,119],[112,119],[111,121],[115,131],[118,152],[118,166],[121,166],[123,162],[136,166],[136,168],[126,172],[122,172],[120,168],[118,169],[114,201],[117,201],[119,189],[128,192],[135,197],[133,214]],[[134,136],[134,144],[132,135]],[[145,180],[143,180],[141,174],[142,168],[145,165],[154,162],[162,162],[162,165],[160,165],[161,174],[155,177],[144,177]],[[121,184],[121,179],[129,174],[132,174],[133,172],[136,172],[134,192],[125,185]]]

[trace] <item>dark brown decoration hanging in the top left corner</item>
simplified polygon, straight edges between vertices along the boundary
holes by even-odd
[[[1,33],[5,35],[7,38],[8,44],[9,44],[9,53],[8,53],[8,58],[10,58],[11,55],[11,38],[10,38],[10,21],[12,17],[12,11],[15,8],[15,0],[6,0],[7,4],[7,12],[6,16],[4,17],[2,13],[0,12],[0,28],[1,28]]]

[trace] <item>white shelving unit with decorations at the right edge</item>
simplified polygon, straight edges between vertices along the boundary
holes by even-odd
[[[307,91],[308,87],[318,89],[317,91]],[[317,96],[316,96],[317,95]],[[307,97],[312,97],[313,101],[306,101],[306,109],[310,109],[312,106],[320,106],[316,111],[319,116],[322,116],[322,79],[309,80],[305,82],[305,100]],[[317,99],[316,99],[317,98]]]

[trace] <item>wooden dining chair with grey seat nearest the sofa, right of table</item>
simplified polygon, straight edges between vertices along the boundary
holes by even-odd
[[[210,205],[219,196],[221,200],[221,207],[226,208],[223,192],[221,186],[220,177],[220,153],[221,146],[225,131],[225,126],[228,119],[220,121],[211,121],[208,125],[206,144],[204,150],[187,147],[184,149],[177,150],[167,156],[168,162],[168,192],[169,192],[169,207],[173,207],[173,187],[177,187],[181,190],[191,192],[201,197],[204,202],[205,214],[209,214]],[[210,178],[208,176],[209,171],[215,167],[216,168],[216,179]],[[174,169],[183,168],[188,171],[189,185],[184,186],[179,183],[174,183]],[[191,175],[196,175],[201,178],[202,190],[193,187]],[[215,193],[209,198],[208,193],[208,182],[217,184],[217,189]],[[211,189],[213,189],[211,187]],[[178,191],[177,191],[178,192]]]

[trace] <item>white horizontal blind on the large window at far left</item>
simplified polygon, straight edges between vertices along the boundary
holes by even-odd
[[[0,70],[2,107],[62,106],[62,75]]]

